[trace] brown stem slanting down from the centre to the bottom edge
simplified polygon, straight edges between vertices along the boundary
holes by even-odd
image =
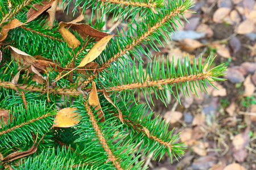
[[[113,153],[110,150],[108,144],[106,143],[106,140],[105,140],[104,136],[102,135],[100,128],[98,128],[97,121],[94,118],[93,112],[90,109],[89,104],[86,103],[86,102],[84,104],[85,104],[86,111],[90,115],[90,121],[92,121],[93,128],[94,128],[94,130],[96,131],[96,133],[98,135],[98,138],[99,138],[99,140],[101,142],[102,147],[104,147],[104,150],[108,153],[109,159],[113,162],[113,164],[115,165],[115,167],[118,170],[123,170],[123,168],[121,168],[121,165],[119,164],[118,160],[115,158],[115,155],[113,155]]]

